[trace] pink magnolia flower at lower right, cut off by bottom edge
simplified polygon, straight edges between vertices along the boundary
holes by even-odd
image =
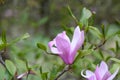
[[[113,74],[111,74],[108,71],[107,64],[104,61],[102,61],[100,63],[100,66],[96,67],[96,70],[94,73],[87,70],[86,75],[83,74],[83,71],[81,72],[81,75],[87,78],[87,80],[113,80],[114,77],[117,75],[118,71],[119,71],[119,68]]]

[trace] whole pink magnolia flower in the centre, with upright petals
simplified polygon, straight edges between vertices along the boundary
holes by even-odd
[[[72,64],[74,62],[77,50],[84,42],[84,31],[80,31],[79,26],[74,30],[72,41],[70,42],[66,32],[59,33],[53,41],[48,43],[50,50],[58,54],[65,64]]]

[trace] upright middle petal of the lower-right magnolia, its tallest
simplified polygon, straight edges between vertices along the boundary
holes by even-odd
[[[95,70],[97,79],[102,80],[106,72],[108,72],[108,66],[104,61],[102,61],[100,67],[97,66]]]

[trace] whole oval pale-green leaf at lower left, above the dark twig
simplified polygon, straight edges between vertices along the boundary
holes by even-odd
[[[6,61],[5,61],[5,65],[6,65],[7,70],[9,71],[9,73],[10,73],[12,76],[14,76],[14,75],[15,75],[15,72],[16,72],[16,67],[15,67],[15,65],[13,64],[13,62],[10,61],[10,60],[6,60]]]

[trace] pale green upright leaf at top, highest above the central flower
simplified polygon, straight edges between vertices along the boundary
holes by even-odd
[[[91,16],[92,16],[91,11],[88,10],[88,9],[86,9],[86,8],[83,8],[80,22],[81,22],[83,25],[88,25],[88,19],[89,19]]]

